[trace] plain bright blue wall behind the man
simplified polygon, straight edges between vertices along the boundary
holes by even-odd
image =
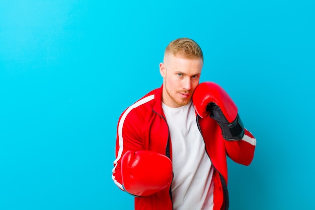
[[[228,162],[230,209],[313,208],[315,4],[0,1],[0,209],[133,209],[111,179],[116,124],[160,87],[166,45],[204,51],[257,138]]]

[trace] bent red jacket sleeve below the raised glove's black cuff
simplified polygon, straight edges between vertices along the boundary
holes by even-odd
[[[225,149],[227,156],[234,162],[250,165],[256,147],[256,138],[245,128],[244,136],[241,140],[225,140]]]

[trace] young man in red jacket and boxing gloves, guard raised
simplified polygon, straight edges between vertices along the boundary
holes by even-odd
[[[172,41],[162,87],[119,118],[112,178],[136,210],[228,209],[226,156],[252,162],[256,139],[220,86],[199,84],[202,66],[195,41]]]

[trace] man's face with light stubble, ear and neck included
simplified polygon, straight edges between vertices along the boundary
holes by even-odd
[[[160,63],[163,77],[162,102],[174,108],[188,104],[199,84],[202,66],[203,61],[200,58],[165,55],[164,63]]]

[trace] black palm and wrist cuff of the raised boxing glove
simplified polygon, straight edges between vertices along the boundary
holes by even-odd
[[[240,140],[244,136],[244,125],[239,116],[229,123],[222,113],[219,106],[211,102],[207,106],[207,111],[210,111],[210,117],[217,121],[222,130],[222,135],[225,140]]]

